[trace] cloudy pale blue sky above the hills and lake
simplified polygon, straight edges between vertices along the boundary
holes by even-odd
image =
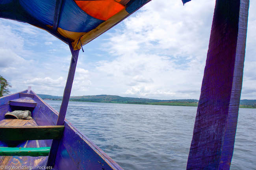
[[[199,99],[215,0],[152,0],[83,46],[71,96]],[[250,1],[241,99],[256,99],[256,1]],[[29,24],[0,18],[0,75],[11,93],[32,86],[62,96],[69,46]]]

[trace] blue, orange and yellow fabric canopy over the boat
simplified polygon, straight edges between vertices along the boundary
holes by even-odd
[[[1,0],[0,17],[45,29],[77,50],[149,1]]]

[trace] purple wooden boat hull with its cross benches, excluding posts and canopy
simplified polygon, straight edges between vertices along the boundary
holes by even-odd
[[[6,155],[0,156],[1,166],[46,166],[52,139],[60,139],[54,169],[122,170],[70,122],[57,126],[59,113],[33,91],[1,97],[0,104],[0,154]],[[30,110],[33,119],[5,119],[13,110]]]

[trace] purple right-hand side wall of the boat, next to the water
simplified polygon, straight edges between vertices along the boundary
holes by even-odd
[[[33,91],[32,93],[35,94]],[[48,106],[36,94],[34,100],[37,102],[35,109],[42,111],[42,113],[34,113],[37,123],[39,125],[43,125],[44,123],[56,124],[58,112]],[[40,108],[37,108],[39,105]],[[58,146],[54,169],[78,170],[86,168],[88,170],[102,170],[104,168],[104,170],[123,170],[113,159],[87,137],[82,135],[67,120],[65,120],[64,126],[63,137]],[[49,146],[50,140],[45,141],[47,146]]]

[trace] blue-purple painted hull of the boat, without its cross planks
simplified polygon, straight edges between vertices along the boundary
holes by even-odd
[[[36,102],[36,106],[30,106],[28,103],[11,106],[9,101],[24,97],[27,90],[7,95],[0,98],[0,121],[4,121],[6,112],[13,110],[30,110],[32,118],[39,126],[56,125],[58,112],[51,108],[43,99],[33,91],[30,91],[30,97]],[[16,104],[17,105],[17,104]],[[55,170],[122,170],[122,168],[111,159],[98,146],[77,130],[70,122],[65,119],[63,136],[59,141],[58,151],[54,164]],[[17,142],[16,147],[23,147],[26,141]],[[35,141],[29,141],[29,147],[37,147]],[[40,140],[39,144],[51,146],[52,140]],[[7,146],[6,143],[0,142],[0,146]],[[41,146],[43,147],[43,146]],[[30,159],[28,159],[28,157]],[[0,164],[15,166],[46,166],[48,156],[30,157],[30,156],[0,156]],[[9,162],[7,162],[9,160]],[[28,161],[30,160],[30,161]],[[33,160],[33,161],[32,161]]]

